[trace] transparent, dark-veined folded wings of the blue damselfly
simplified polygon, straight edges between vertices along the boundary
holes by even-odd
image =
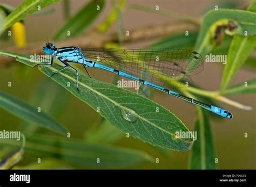
[[[184,49],[112,49],[81,50],[86,59],[162,87],[185,87],[190,76],[204,69],[203,57]]]

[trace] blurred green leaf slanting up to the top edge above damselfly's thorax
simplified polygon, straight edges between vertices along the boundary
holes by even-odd
[[[74,37],[75,35],[82,33],[85,28],[87,28],[93,20],[95,20],[99,13],[102,12],[104,8],[103,0],[99,1],[90,1],[87,3],[84,8],[79,10],[75,16],[71,17],[66,24],[60,28],[60,30],[55,34],[53,39],[59,40],[68,38],[67,32],[70,32],[70,35]],[[97,10],[99,8],[99,10]]]

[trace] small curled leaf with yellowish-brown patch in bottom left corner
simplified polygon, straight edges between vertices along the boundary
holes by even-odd
[[[18,150],[8,155],[5,159],[0,162],[0,169],[10,169],[14,167],[19,161],[22,160],[25,148],[25,136],[21,134],[22,145]]]

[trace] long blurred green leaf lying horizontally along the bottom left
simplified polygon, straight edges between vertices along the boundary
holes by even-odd
[[[18,143],[1,140],[2,145],[17,147]],[[33,135],[26,137],[25,154],[40,155],[75,164],[78,167],[125,168],[152,161],[152,157],[139,150],[99,146],[70,138]],[[97,158],[100,163],[97,163]]]

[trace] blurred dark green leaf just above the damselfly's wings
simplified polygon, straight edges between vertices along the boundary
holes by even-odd
[[[158,40],[150,45],[150,48],[155,49],[177,49],[184,48],[188,46],[193,46],[196,42],[198,32],[191,31],[188,36],[183,34],[170,35],[163,39]]]

